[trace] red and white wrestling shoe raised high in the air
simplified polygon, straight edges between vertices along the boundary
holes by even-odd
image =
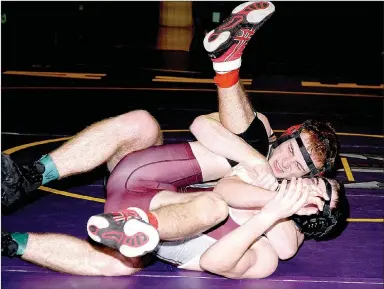
[[[253,34],[275,12],[271,2],[246,2],[204,38],[204,48],[215,71],[231,71],[241,66],[241,55]]]

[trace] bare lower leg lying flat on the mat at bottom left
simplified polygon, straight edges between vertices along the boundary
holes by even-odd
[[[86,276],[123,276],[140,270],[140,259],[95,247],[69,235],[30,233],[22,259],[63,273]]]

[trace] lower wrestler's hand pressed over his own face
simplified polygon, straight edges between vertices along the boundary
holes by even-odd
[[[262,211],[268,212],[276,219],[284,219],[296,214],[306,203],[309,188],[303,189],[301,178],[292,178],[289,186],[283,180],[276,196],[265,204]]]

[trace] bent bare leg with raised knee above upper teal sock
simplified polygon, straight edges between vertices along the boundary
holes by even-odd
[[[137,110],[94,123],[49,155],[60,178],[65,178],[107,161],[112,170],[127,153],[159,143],[161,132],[156,120]]]

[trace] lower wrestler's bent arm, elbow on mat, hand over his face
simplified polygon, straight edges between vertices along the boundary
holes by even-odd
[[[309,189],[302,190],[300,179],[296,182],[293,178],[288,189],[286,186],[283,181],[277,195],[259,213],[214,243],[202,255],[200,266],[228,278],[263,278],[272,274],[277,264],[264,264],[252,245],[278,220],[295,214],[309,197]]]

